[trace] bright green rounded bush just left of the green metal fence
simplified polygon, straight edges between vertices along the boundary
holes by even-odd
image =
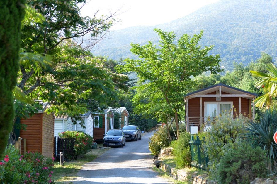
[[[188,132],[180,133],[179,139],[171,142],[176,166],[178,168],[190,167],[191,165],[191,147],[189,140],[191,134]]]

